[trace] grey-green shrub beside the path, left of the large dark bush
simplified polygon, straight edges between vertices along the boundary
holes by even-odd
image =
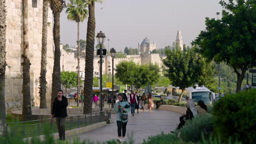
[[[202,135],[207,139],[213,132],[213,116],[211,114],[196,116],[192,121],[185,122],[180,132],[184,141],[201,141]]]

